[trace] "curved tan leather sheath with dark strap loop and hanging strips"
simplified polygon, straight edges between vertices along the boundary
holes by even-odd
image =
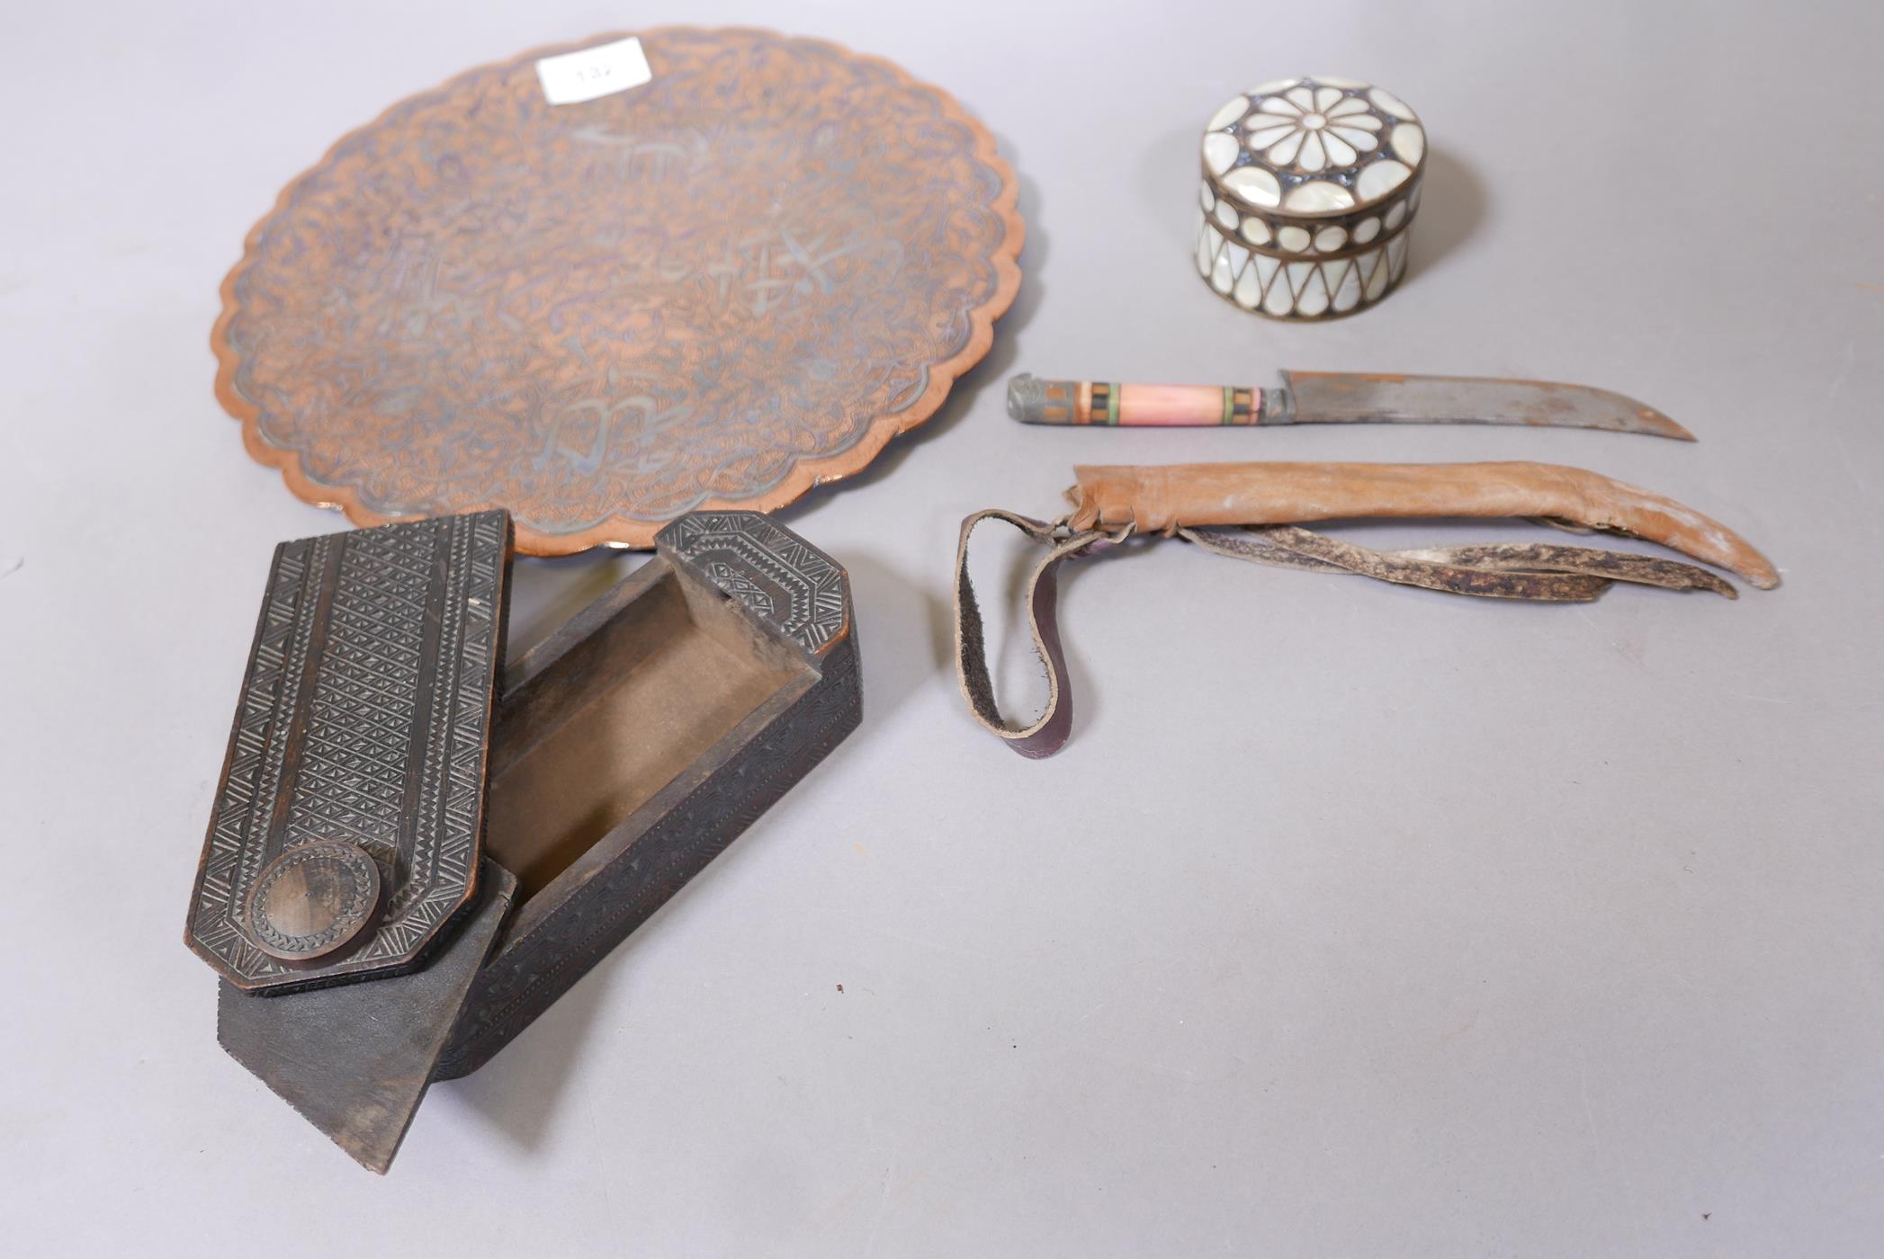
[[[1072,734],[1072,685],[1059,638],[1059,570],[1068,559],[1134,533],[1181,536],[1215,555],[1277,568],[1368,576],[1485,598],[1581,602],[1615,582],[1673,591],[1733,587],[1656,555],[1552,544],[1481,544],[1379,551],[1302,529],[1296,521],[1366,516],[1517,516],[1660,542],[1746,578],[1778,585],[1773,565],[1737,533],[1664,495],[1554,463],[1193,463],[1080,467],[1061,521],[976,512],[955,548],[955,668],[974,719],[1023,757],[1051,757]],[[985,623],[968,578],[968,542],[1002,521],[1048,548],[1027,578],[1025,614],[1048,683],[1042,713],[1000,713],[987,670]]]

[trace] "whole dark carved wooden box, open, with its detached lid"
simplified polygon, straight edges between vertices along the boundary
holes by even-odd
[[[384,1171],[861,717],[844,570],[752,512],[501,668],[503,512],[284,542],[185,941],[219,1039]]]

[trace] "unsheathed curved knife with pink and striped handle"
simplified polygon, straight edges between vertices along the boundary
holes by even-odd
[[[1528,423],[1692,442],[1694,433],[1633,397],[1584,384],[1490,376],[1285,371],[1279,388],[1008,380],[1021,423],[1217,427],[1257,423]]]

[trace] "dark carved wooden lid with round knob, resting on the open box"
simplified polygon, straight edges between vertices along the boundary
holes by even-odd
[[[477,892],[505,512],[283,542],[185,941],[243,992],[399,975]]]

